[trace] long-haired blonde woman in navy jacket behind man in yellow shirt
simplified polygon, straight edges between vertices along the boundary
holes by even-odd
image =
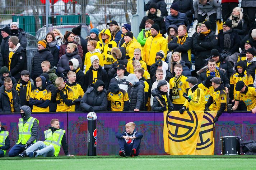
[[[172,59],[171,59],[171,63],[170,63],[170,69],[171,69],[172,76],[173,77],[175,76],[175,72],[173,71],[174,65],[178,64],[178,63],[181,64],[183,67],[183,72],[182,72],[183,76],[186,76],[187,78],[191,77],[191,72],[189,69],[191,66],[191,63],[190,63],[190,61],[182,61],[181,54],[179,52],[172,53]]]

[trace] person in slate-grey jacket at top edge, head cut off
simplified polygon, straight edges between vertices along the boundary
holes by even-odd
[[[219,0],[194,0],[194,21],[202,23],[209,16],[210,29],[215,31],[216,22],[221,23],[221,4]]]

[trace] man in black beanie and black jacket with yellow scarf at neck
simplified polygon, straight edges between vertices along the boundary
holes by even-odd
[[[196,35],[193,40],[193,49],[195,50],[195,70],[199,71],[206,64],[211,50],[215,48],[218,43],[217,35],[211,30],[211,24],[209,21],[204,21],[201,24],[201,32]]]

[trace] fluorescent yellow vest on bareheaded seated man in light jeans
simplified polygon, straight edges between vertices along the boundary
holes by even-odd
[[[48,129],[45,131],[45,145],[53,145],[54,147],[54,156],[58,156],[60,152],[60,147],[61,147],[61,140],[64,136],[64,133],[66,131],[59,129],[56,130],[52,133],[51,129]]]

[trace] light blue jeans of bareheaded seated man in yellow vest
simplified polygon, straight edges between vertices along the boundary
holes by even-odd
[[[37,151],[36,151],[37,150]],[[36,156],[43,155],[44,157],[51,157],[54,156],[54,147],[53,145],[45,145],[43,141],[38,141],[27,150],[25,150],[26,154],[28,155],[30,152],[36,151]]]

